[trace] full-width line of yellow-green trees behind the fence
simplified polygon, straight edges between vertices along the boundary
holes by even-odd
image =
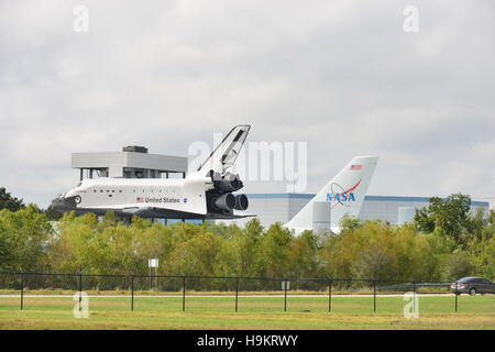
[[[66,213],[58,221],[36,206],[0,211],[0,271],[85,274],[334,277],[452,280],[495,277],[495,212],[470,212],[471,199],[431,198],[415,221],[344,218],[338,235],[300,235],[257,219],[237,226],[173,223],[134,217],[130,224],[108,212]]]

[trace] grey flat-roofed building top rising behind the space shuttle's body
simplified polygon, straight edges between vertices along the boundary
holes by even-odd
[[[80,169],[80,179],[168,178],[169,174],[185,177],[187,157],[150,154],[144,146],[125,146],[122,152],[73,153],[70,166]]]

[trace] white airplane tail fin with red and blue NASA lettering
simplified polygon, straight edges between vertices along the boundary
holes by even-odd
[[[355,156],[289,221],[286,228],[300,233],[312,228],[314,204],[330,202],[330,226],[339,232],[340,220],[358,217],[375,170],[378,156]]]

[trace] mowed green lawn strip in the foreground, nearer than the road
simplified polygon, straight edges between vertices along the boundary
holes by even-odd
[[[0,329],[495,329],[495,296],[419,296],[419,318],[406,319],[402,296],[89,297],[76,319],[68,297],[0,296]]]

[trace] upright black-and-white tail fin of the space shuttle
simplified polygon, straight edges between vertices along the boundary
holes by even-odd
[[[239,152],[250,133],[250,129],[251,125],[249,124],[240,124],[230,130],[197,172],[213,170],[223,174],[235,163]]]

